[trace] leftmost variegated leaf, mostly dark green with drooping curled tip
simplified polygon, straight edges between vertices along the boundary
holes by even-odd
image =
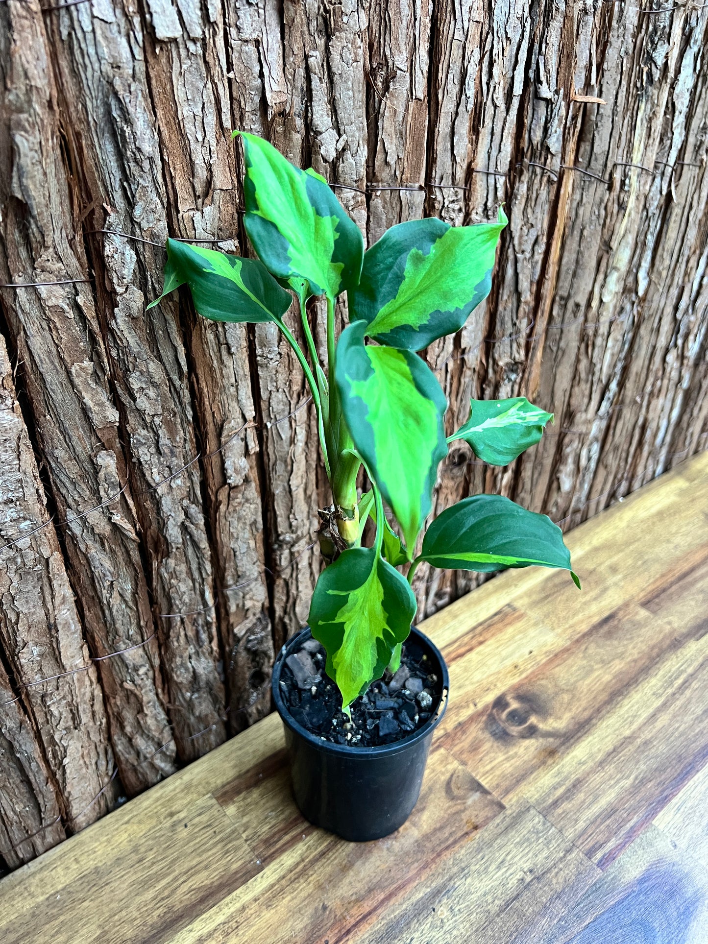
[[[160,298],[185,283],[196,311],[212,321],[280,323],[293,300],[262,262],[168,239]]]

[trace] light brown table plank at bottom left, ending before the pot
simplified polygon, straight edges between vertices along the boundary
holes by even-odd
[[[194,908],[209,908],[260,870],[209,796],[125,838],[109,858],[102,844],[85,847],[76,874],[45,874],[40,895],[17,886],[4,944],[76,944],[77,928],[86,942],[167,940]]]

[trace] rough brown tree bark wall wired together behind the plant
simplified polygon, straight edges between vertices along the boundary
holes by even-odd
[[[0,279],[63,283],[0,288],[8,868],[266,713],[307,616],[328,496],[294,357],[184,295],[145,312],[168,233],[245,251],[231,128],[368,244],[504,203],[492,295],[427,357],[450,429],[470,396],[556,421],[505,469],[455,444],[435,506],[569,528],[708,445],[707,39],[659,0],[0,3]],[[419,568],[420,613],[475,581]]]

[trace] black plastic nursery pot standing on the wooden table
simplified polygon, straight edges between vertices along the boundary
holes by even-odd
[[[413,629],[409,641],[428,656],[430,671],[438,677],[433,714],[422,728],[393,744],[351,748],[309,732],[290,714],[280,694],[285,659],[310,636],[305,629],[289,640],[273,669],[273,699],[285,728],[295,802],[311,823],[343,839],[379,839],[403,825],[418,799],[432,733],[447,707],[445,660],[428,636]]]

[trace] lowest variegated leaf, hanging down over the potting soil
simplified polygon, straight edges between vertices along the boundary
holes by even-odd
[[[383,675],[396,645],[411,632],[415,598],[406,579],[377,548],[352,548],[320,574],[310,628],[327,650],[327,674],[343,706]]]

